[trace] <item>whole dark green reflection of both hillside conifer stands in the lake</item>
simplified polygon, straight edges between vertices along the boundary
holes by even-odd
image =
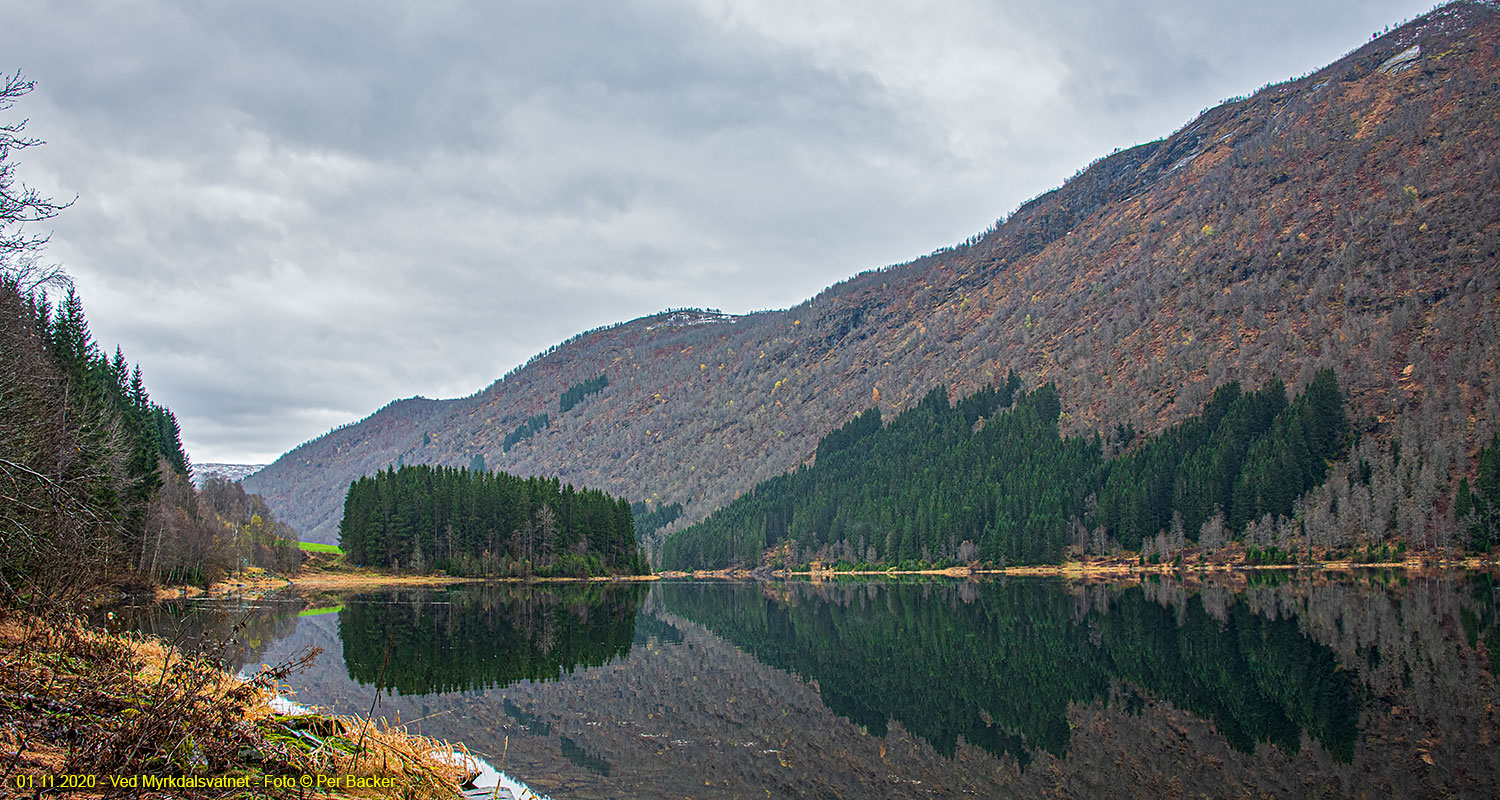
[[[674,614],[816,680],[840,716],[885,735],[898,720],[952,756],[958,737],[1022,764],[1068,749],[1070,704],[1126,699],[1124,680],[1212,719],[1232,747],[1296,752],[1306,731],[1353,753],[1354,686],[1334,653],[1286,618],[1202,602],[1170,608],[1140,587],[1098,602],[1059,584],[663,585]],[[1083,600],[1080,603],[1080,600]],[[1130,708],[1126,707],[1126,711]]]

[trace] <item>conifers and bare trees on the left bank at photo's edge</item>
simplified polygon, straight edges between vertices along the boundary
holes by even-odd
[[[0,597],[296,570],[297,531],[238,483],[195,489],[177,417],[140,365],[102,353],[63,273],[36,275],[0,264]]]

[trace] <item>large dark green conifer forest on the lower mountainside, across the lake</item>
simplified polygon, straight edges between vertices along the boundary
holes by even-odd
[[[663,567],[1035,564],[1090,539],[1212,540],[1290,515],[1348,429],[1332,371],[1292,402],[1280,381],[1248,395],[1230,383],[1113,459],[1098,434],[1060,437],[1059,413],[1052,384],[1020,392],[1014,374],[954,405],[938,387],[890,425],[870,408],[824,437],[813,465],[669,536]]]

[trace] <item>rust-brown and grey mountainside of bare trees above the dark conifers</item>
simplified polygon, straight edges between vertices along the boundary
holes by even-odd
[[[1064,432],[1130,447],[1215,386],[1296,392],[1332,368],[1395,500],[1442,516],[1500,422],[1496,119],[1500,9],[1452,3],[1101,158],[963,245],[786,311],[580,333],[472,396],[393,402],[244,485],[332,540],[352,479],[483,456],[682,503],[664,536],[812,461],[870,405],[890,419],[939,384],[1052,381]]]

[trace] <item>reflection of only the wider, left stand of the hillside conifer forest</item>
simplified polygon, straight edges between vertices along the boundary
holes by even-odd
[[[958,737],[1023,762],[1023,740],[1060,755],[1068,702],[1108,690],[1070,621],[1070,597],[1052,584],[984,587],[974,602],[933,584],[777,591],[663,585],[662,597],[765,663],[816,680],[824,702],[870,734],[896,719],[950,756]]]

